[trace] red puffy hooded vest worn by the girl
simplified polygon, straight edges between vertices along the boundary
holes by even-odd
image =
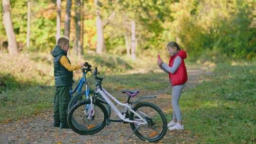
[[[170,79],[170,82],[172,83],[172,86],[182,85],[183,83],[185,83],[188,80],[187,70],[186,70],[186,66],[184,63],[184,59],[187,58],[187,54],[181,50],[174,56],[170,56],[170,60],[169,60],[170,67],[173,66],[174,59],[176,56],[180,56],[182,59],[182,62],[180,64],[180,66],[178,67],[178,69],[174,73],[169,72],[169,79]]]

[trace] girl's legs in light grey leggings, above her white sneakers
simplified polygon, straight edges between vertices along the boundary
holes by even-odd
[[[173,111],[175,113],[174,118],[176,118],[178,123],[180,123],[181,125],[182,125],[182,113],[181,113],[181,108],[179,107],[179,100],[180,100],[181,92],[183,88],[184,88],[184,84],[174,86],[173,92],[172,92],[172,105],[173,105]]]

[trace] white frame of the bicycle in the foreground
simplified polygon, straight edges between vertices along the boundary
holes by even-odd
[[[101,96],[105,99],[105,101],[110,105],[111,109],[113,109],[113,111],[118,115],[118,117],[128,123],[134,123],[137,125],[147,125],[147,122],[145,119],[143,119],[139,114],[137,114],[134,110],[132,110],[132,108],[129,106],[128,103],[121,103],[119,102],[117,99],[115,99],[108,91],[104,90],[102,88],[102,90],[100,89],[99,86],[97,86],[97,90],[96,93],[100,93]],[[119,109],[113,104],[113,102],[110,100],[114,100],[119,106],[125,107],[125,111],[127,109],[129,109],[132,113],[134,113],[140,121],[134,121],[134,120],[129,120],[128,118],[125,117],[126,113],[124,113],[123,115],[121,114],[121,112],[119,111]],[[93,106],[92,106],[93,107]]]

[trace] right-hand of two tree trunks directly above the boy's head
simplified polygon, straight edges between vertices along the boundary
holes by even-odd
[[[69,39],[70,35],[70,19],[71,19],[71,4],[72,0],[66,0],[66,14],[65,14],[65,29],[64,29],[64,36]]]

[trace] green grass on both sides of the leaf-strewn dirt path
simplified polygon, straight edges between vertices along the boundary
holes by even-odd
[[[168,77],[158,71],[152,58],[138,58],[135,62],[126,56],[71,55],[72,63],[84,59],[99,67],[103,86],[114,94],[123,89],[155,93],[169,85]],[[1,54],[0,60],[4,63],[0,65],[1,123],[33,117],[53,107],[55,86],[50,55],[20,54],[9,58]],[[210,63],[209,69],[212,74],[204,75],[196,87],[183,90],[180,106],[185,128],[200,144],[255,144],[256,63]],[[78,80],[79,72],[74,73]],[[167,113],[166,117],[170,120],[172,115]]]

